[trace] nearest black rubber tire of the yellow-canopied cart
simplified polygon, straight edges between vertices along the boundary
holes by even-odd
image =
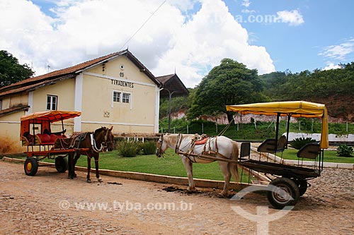
[[[278,194],[274,188],[271,191],[268,191],[267,198],[273,207],[282,209],[287,205],[295,205],[299,200],[299,187],[291,179],[285,177],[276,178],[269,184],[282,188],[285,192],[287,192],[287,198],[283,198],[282,195]]]

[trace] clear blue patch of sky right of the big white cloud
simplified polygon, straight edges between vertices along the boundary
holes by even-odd
[[[242,13],[242,1],[226,1],[234,16]],[[278,11],[297,10],[304,23],[291,26],[284,23],[244,23],[251,34],[253,44],[264,46],[273,59],[277,71],[292,72],[325,68],[332,63],[354,61],[353,42],[351,53],[338,59],[324,56],[326,49],[353,40],[354,1],[344,0],[299,0],[299,1],[251,1],[247,8],[254,15],[272,15]],[[338,52],[339,54],[340,52]],[[340,56],[340,55],[338,55]]]

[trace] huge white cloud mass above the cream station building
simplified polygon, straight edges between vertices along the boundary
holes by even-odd
[[[30,1],[0,2],[0,48],[36,75],[65,68],[119,49],[161,4],[161,0],[42,0],[55,2],[55,18]],[[198,4],[198,5],[195,5]],[[201,8],[190,13],[195,6]],[[188,12],[188,13],[187,13]],[[189,14],[189,15],[188,15]],[[228,57],[275,71],[264,47],[249,44],[249,34],[221,0],[166,1],[127,44],[155,76],[176,71],[194,87],[213,66]]]

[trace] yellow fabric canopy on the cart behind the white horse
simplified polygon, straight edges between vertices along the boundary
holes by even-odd
[[[292,116],[322,119],[321,148],[329,147],[329,122],[324,104],[306,101],[265,102],[254,104],[227,105],[227,111],[240,114],[258,114],[268,116]]]

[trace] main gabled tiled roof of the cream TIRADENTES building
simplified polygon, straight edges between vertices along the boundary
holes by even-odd
[[[71,66],[69,68],[63,68],[57,71],[52,71],[50,73],[43,74],[41,76],[33,77],[33,78],[27,78],[25,80],[21,80],[17,83],[13,83],[11,85],[8,85],[4,88],[0,88],[0,97],[4,95],[11,95],[14,92],[21,92],[25,91],[31,88],[35,88],[38,85],[43,85],[47,84],[47,82],[50,82],[52,80],[56,80],[56,78],[64,78],[64,76],[67,75],[74,75],[76,73],[80,73],[86,68],[90,68],[92,66],[96,66],[97,64],[101,64],[104,61],[108,61],[110,59],[113,59],[117,56],[122,56],[123,54],[126,54],[127,57],[139,68],[139,70],[143,73],[145,73],[156,85],[161,85],[158,80],[152,75],[152,73],[135,57],[132,55],[131,52],[129,52],[127,49],[120,51],[120,52],[115,52],[112,54],[108,54],[106,56],[101,56],[96,59],[92,59],[90,61],[86,61],[81,64],[76,64],[75,66]]]

